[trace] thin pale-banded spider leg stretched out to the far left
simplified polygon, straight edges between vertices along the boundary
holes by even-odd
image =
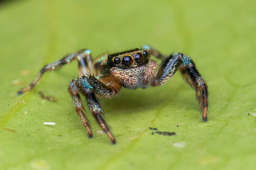
[[[78,72],[79,77],[82,77],[83,74],[88,74],[92,70],[92,57],[91,57],[91,51],[90,50],[80,50],[78,52],[75,52],[73,54],[67,55],[63,57],[61,60],[58,60],[57,62],[52,62],[50,64],[46,64],[39,74],[37,75],[36,79],[34,79],[29,86],[24,87],[20,91],[18,91],[18,95],[21,95],[25,93],[26,91],[30,91],[31,89],[36,86],[36,83],[41,79],[43,74],[45,72],[50,72],[52,70],[58,69],[62,67],[65,64],[68,64],[70,62],[73,62],[73,60],[78,60]]]

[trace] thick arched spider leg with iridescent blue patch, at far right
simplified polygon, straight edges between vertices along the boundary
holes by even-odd
[[[186,79],[188,84],[195,89],[199,107],[201,108],[202,112],[202,119],[206,122],[208,111],[208,89],[206,81],[204,81],[203,77],[196,69],[195,63],[190,57],[181,53],[176,53],[166,57],[166,59],[163,60],[159,66],[152,86],[164,84],[175,74],[177,69],[180,70],[183,78]]]

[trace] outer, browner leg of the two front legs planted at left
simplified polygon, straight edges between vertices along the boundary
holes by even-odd
[[[82,125],[85,126],[85,129],[87,130],[87,133],[89,137],[92,137],[92,129],[90,128],[89,120],[86,118],[83,111],[85,111],[85,108],[82,106],[82,100],[79,95],[79,90],[77,87],[77,82],[75,79],[71,80],[68,84],[68,92],[70,93],[70,96],[73,98],[73,103],[75,106],[75,111],[78,113],[80,119],[82,120]]]

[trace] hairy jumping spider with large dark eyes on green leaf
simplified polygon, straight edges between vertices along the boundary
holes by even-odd
[[[162,60],[157,66],[156,60],[149,60],[150,55]],[[198,73],[195,63],[187,55],[181,53],[162,55],[159,51],[144,45],[142,49],[117,52],[111,55],[103,55],[95,62],[92,62],[90,50],[80,50],[63,57],[63,59],[47,64],[41,69],[32,83],[18,91],[23,94],[30,91],[41,79],[45,72],[58,69],[65,64],[78,61],[79,78],[73,79],[68,84],[68,91],[73,98],[75,111],[80,116],[89,137],[92,137],[92,130],[89,121],[84,115],[85,108],[82,106],[80,94],[85,96],[90,112],[97,120],[102,130],[114,144],[114,135],[102,118],[104,111],[100,106],[97,97],[111,98],[116,96],[122,86],[128,89],[146,88],[147,86],[159,86],[169,80],[177,70],[184,79],[196,91],[199,107],[202,112],[203,121],[207,121],[208,111],[208,90],[206,82]]]

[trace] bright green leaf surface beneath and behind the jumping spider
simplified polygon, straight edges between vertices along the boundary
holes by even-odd
[[[255,30],[256,1],[0,2],[0,169],[255,169]],[[87,138],[67,90],[75,62],[16,95],[67,53],[86,47],[97,57],[144,44],[193,58],[208,82],[208,123],[180,74],[101,99],[117,145],[88,111]],[[58,101],[43,103],[38,91]]]

